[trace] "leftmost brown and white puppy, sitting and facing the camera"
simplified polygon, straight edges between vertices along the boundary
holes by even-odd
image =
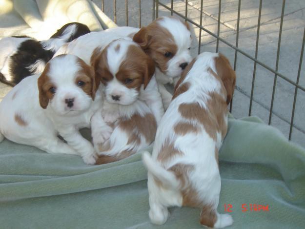
[[[26,77],[3,98],[0,140],[5,136],[48,153],[80,155],[94,164],[94,148],[79,129],[90,126],[101,103],[93,69],[74,55],[58,56],[41,75]]]

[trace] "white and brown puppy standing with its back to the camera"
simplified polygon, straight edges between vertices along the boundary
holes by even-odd
[[[219,214],[218,151],[227,131],[227,104],[235,72],[221,54],[204,52],[184,70],[157,129],[148,170],[149,217],[163,224],[170,206],[202,208],[201,224],[224,228],[233,223]]]

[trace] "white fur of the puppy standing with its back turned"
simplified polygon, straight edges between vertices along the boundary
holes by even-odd
[[[148,170],[148,191],[149,191],[149,217],[155,224],[163,224],[168,217],[167,208],[170,206],[182,206],[182,195],[180,193],[180,180],[175,174],[167,169],[177,165],[185,164],[194,166],[188,174],[188,183],[197,191],[199,199],[217,210],[221,190],[221,178],[217,161],[215,160],[215,147],[219,149],[222,144],[220,133],[214,141],[204,127],[197,133],[189,132],[185,135],[177,135],[174,131],[175,125],[179,122],[191,123],[194,126],[201,126],[197,120],[188,120],[181,116],[179,105],[183,103],[198,103],[206,108],[209,99],[209,92],[220,92],[221,83],[210,75],[208,68],[215,72],[214,58],[218,54],[202,53],[197,57],[196,62],[186,75],[183,82],[190,83],[190,88],[183,94],[176,97],[165,112],[157,129],[153,152],[143,154],[143,163]],[[225,95],[224,101],[225,101]],[[227,114],[224,114],[227,119]],[[166,162],[158,161],[158,154],[165,142],[174,144],[182,155],[175,155]],[[191,147],[190,147],[191,146]],[[162,182],[160,187],[156,184],[155,178]],[[218,219],[215,228],[223,228],[233,223],[232,217],[227,214],[217,213]]]

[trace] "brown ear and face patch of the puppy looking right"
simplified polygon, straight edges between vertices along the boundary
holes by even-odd
[[[164,54],[171,52],[174,56],[177,53],[178,47],[173,35],[158,23],[159,20],[162,20],[162,18],[140,29],[133,37],[133,41],[137,42],[145,53],[154,60],[156,66],[165,73],[167,62],[171,57],[165,57]]]

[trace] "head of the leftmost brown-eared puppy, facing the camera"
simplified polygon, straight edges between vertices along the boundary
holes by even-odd
[[[93,69],[80,58],[64,54],[50,60],[38,79],[39,102],[58,115],[87,110],[97,90]]]

